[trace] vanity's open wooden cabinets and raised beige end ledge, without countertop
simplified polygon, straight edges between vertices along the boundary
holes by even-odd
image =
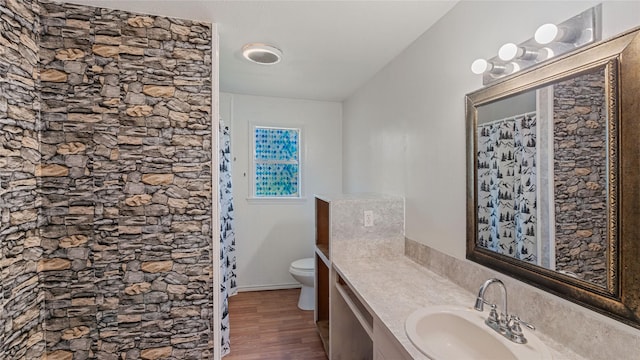
[[[389,239],[400,244],[403,200],[375,194],[318,195],[315,208],[315,321],[328,358],[411,359],[332,262],[334,256],[366,254],[369,246],[389,246]]]

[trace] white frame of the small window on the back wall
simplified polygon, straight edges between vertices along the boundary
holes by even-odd
[[[298,133],[298,191],[296,195],[286,195],[286,196],[259,196],[257,194],[257,182],[256,182],[256,165],[260,163],[260,161],[256,161],[256,140],[255,134],[256,129],[277,129],[277,130],[295,130]],[[276,202],[286,202],[286,201],[301,201],[305,200],[304,198],[304,146],[303,146],[303,128],[302,126],[296,125],[265,125],[265,124],[251,124],[249,127],[249,145],[251,147],[249,152],[249,198],[250,201],[276,201]],[[272,163],[286,163],[286,162],[278,162],[273,161]]]

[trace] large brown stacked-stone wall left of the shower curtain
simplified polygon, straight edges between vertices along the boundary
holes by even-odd
[[[16,237],[5,230],[11,219],[29,251],[39,251],[26,285],[9,286],[44,293],[44,304],[39,296],[37,312],[20,304],[3,313],[32,322],[34,335],[5,320],[0,333],[31,335],[18,341],[25,348],[43,344],[44,326],[50,359],[211,357],[210,26],[49,1],[0,0],[0,11],[6,17],[29,5],[39,5],[40,17],[32,16],[41,26],[22,43],[39,55],[40,83],[31,80],[30,101],[21,95],[30,107],[14,111],[24,124],[0,128],[0,170],[26,168],[1,180],[3,200],[10,194],[15,205],[11,215],[2,209],[0,234]],[[7,63],[14,69],[23,58]],[[24,135],[20,146],[16,133]],[[21,158],[4,153],[16,150]],[[18,180],[24,184],[7,182]],[[6,297],[7,254],[17,250],[2,251]]]

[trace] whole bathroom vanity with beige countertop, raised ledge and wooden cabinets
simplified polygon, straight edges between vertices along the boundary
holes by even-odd
[[[470,307],[475,290],[404,255],[401,198],[318,196],[316,204],[316,322],[329,360],[428,360],[406,334],[407,317],[426,306]],[[442,264],[448,258],[437,259]],[[477,277],[478,271],[492,276],[475,267],[469,274]],[[540,331],[536,335],[553,358],[583,359]]]

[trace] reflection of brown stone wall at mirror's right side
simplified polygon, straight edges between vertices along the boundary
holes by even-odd
[[[556,267],[606,287],[604,69],[554,85]]]

